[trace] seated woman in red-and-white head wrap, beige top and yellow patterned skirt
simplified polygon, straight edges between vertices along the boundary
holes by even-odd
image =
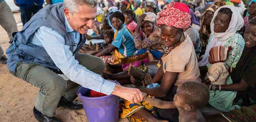
[[[188,6],[181,4],[182,6],[178,7],[185,9],[179,10],[173,7],[175,4],[173,5],[173,2],[171,2],[167,5],[166,9],[159,13],[157,19],[157,25],[161,27],[161,39],[167,48],[162,57],[163,63],[149,84],[159,82],[161,79],[162,82],[159,87],[140,88],[141,92],[164,101],[173,101],[180,84],[187,81],[201,81],[193,43],[188,34],[184,32],[184,29],[191,24]],[[145,106],[147,110],[142,109],[141,106]],[[178,122],[177,109],[154,108],[145,102],[129,104],[129,101],[126,101],[121,118],[132,116],[131,119],[136,121],[159,121],[152,113],[160,119]]]

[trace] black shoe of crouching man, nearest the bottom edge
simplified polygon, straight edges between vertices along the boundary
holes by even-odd
[[[33,113],[34,113],[34,116],[35,116],[35,118],[36,118],[36,120],[38,121],[38,122],[61,122],[61,120],[58,120],[56,117],[48,117],[48,116],[46,116],[46,115],[44,115],[44,114],[37,114],[36,113],[36,108],[34,107],[34,109],[33,109]]]

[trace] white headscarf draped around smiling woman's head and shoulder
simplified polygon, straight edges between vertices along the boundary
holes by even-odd
[[[217,33],[217,32],[214,32],[214,19],[216,18],[221,8],[229,8],[233,13],[232,13],[231,21],[229,23],[229,26],[226,32]],[[206,66],[208,64],[209,51],[212,47],[224,46],[225,40],[233,36],[236,33],[236,31],[240,30],[243,26],[244,26],[244,19],[242,18],[240,12],[237,11],[235,6],[224,5],[218,8],[214,12],[214,15],[211,21],[212,39],[211,39],[211,42],[207,45],[204,58],[202,59],[202,61],[198,63],[199,67]]]

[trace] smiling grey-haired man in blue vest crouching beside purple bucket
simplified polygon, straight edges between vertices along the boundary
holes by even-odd
[[[6,50],[12,75],[40,88],[34,116],[39,122],[60,122],[54,117],[57,106],[81,109],[73,102],[79,85],[132,103],[143,100],[139,89],[126,88],[103,79],[104,62],[78,53],[97,14],[97,0],[64,0],[38,11],[21,29],[12,33]],[[58,74],[70,80],[65,81]]]

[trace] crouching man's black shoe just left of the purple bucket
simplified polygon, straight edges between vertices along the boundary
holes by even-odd
[[[60,98],[58,107],[64,107],[70,110],[82,110],[83,104],[80,102],[69,102],[63,96]]]

